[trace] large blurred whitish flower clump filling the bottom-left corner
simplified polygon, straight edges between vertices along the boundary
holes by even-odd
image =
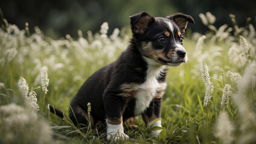
[[[0,125],[5,143],[55,143],[49,124],[14,103],[0,106]]]

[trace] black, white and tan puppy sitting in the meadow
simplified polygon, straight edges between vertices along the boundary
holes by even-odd
[[[72,122],[88,124],[87,104],[91,103],[92,127],[107,127],[107,139],[117,140],[128,138],[123,124],[130,118],[142,115],[147,126],[161,118],[167,66],[176,67],[188,58],[182,46],[188,22],[194,23],[193,18],[181,13],[167,18],[145,12],[130,16],[130,45],[117,61],[100,68],[83,83],[70,103]],[[50,109],[54,112],[53,107]],[[162,127],[161,121],[151,127],[156,126]],[[160,132],[152,134],[158,136]]]

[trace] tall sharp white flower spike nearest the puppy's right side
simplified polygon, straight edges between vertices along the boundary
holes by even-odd
[[[206,62],[203,61],[201,64],[200,71],[202,73],[203,82],[205,83],[206,91],[205,91],[205,98],[203,100],[203,106],[207,106],[211,103],[211,97],[213,97],[213,83],[210,81],[210,76],[208,73],[208,67],[206,65]]]

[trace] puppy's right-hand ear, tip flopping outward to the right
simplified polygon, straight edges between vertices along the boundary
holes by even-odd
[[[187,28],[188,22],[194,23],[194,19],[190,15],[177,13],[171,16],[167,16],[167,19],[173,20],[179,27],[179,30],[182,34],[185,33],[185,29]]]

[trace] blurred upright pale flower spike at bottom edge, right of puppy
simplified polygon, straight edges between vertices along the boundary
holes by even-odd
[[[215,136],[218,137],[223,144],[229,144],[234,141],[234,125],[229,120],[228,114],[225,111],[220,113]]]

